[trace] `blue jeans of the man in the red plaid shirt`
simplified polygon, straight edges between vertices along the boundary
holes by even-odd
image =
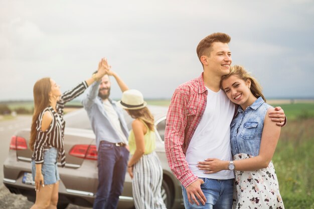
[[[201,177],[200,177],[201,178]],[[190,209],[231,209],[233,198],[233,178],[227,180],[217,180],[211,178],[201,178],[204,183],[201,189],[206,197],[205,205],[197,198],[200,205],[195,202],[191,204],[188,199],[187,190],[182,186],[185,208]],[[192,199],[193,201],[193,199]]]

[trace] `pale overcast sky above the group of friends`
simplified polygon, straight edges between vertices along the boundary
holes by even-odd
[[[145,98],[171,98],[203,69],[200,40],[231,36],[266,98],[314,97],[314,1],[0,0],[0,100],[33,98],[53,78],[65,91],[106,57]],[[112,79],[112,98],[121,93]]]

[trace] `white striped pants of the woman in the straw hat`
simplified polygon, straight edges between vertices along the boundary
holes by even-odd
[[[167,209],[162,198],[163,168],[156,152],[143,155],[133,167],[132,192],[136,209]]]

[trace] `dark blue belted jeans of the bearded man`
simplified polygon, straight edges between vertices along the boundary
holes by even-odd
[[[123,190],[129,151],[109,142],[98,147],[98,187],[94,209],[115,209]],[[113,179],[114,178],[114,179]]]

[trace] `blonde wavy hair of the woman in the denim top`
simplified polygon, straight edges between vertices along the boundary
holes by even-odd
[[[222,88],[222,81],[227,79],[227,78],[229,78],[230,76],[233,76],[233,75],[239,77],[240,79],[242,79],[245,82],[249,79],[251,81],[250,90],[251,90],[252,94],[256,98],[262,97],[262,99],[266,102],[266,99],[265,99],[264,95],[262,94],[262,87],[261,87],[261,85],[241,65],[231,66],[230,73],[228,75],[225,75],[225,76],[221,77],[220,87],[221,87],[222,90],[223,90],[223,88]]]

